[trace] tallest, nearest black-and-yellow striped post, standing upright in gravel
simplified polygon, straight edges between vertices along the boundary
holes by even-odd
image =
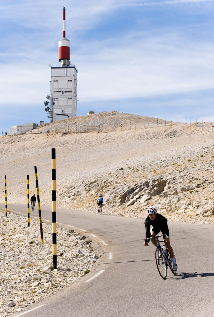
[[[56,269],[56,151],[51,149],[52,167],[52,245],[53,245],[53,269]]]

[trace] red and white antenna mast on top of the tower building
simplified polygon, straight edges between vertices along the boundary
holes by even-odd
[[[59,40],[59,61],[61,66],[69,66],[70,60],[70,41],[65,37],[65,7],[62,16],[62,39]]]

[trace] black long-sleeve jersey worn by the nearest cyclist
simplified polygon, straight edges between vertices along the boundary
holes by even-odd
[[[152,227],[156,229],[157,232],[153,230],[156,234],[158,234],[158,232],[161,231],[164,235],[169,236],[169,228],[167,225],[167,219],[158,213],[156,217],[154,218],[154,220],[151,220],[149,216],[146,217],[144,224],[146,228],[146,239],[151,236],[150,225],[152,225]],[[148,242],[149,241],[150,240],[148,240]]]

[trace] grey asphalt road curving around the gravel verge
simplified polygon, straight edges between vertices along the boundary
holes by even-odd
[[[26,205],[8,210],[27,215]],[[41,210],[51,221],[51,208]],[[87,275],[14,316],[214,316],[213,225],[168,223],[179,267],[163,280],[154,246],[143,247],[144,220],[57,208],[57,222],[90,236],[103,254]]]

